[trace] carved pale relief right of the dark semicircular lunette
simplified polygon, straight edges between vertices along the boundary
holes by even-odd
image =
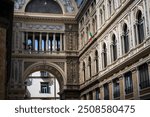
[[[74,12],[74,7],[73,7],[73,5],[71,3],[71,0],[61,0],[61,2],[65,6],[66,12],[69,12],[69,13]]]

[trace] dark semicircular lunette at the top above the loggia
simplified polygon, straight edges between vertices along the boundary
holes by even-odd
[[[63,9],[56,0],[29,0],[25,12],[63,14]]]

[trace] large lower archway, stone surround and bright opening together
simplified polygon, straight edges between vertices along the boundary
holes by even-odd
[[[25,99],[61,99],[64,73],[53,63],[35,63],[23,75]]]

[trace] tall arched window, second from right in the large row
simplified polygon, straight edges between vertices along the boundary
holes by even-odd
[[[127,53],[129,51],[129,36],[128,36],[128,27],[127,24],[123,26],[123,35],[122,35],[122,46],[123,46],[123,53]]]

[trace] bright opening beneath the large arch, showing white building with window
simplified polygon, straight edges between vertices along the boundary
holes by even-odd
[[[59,100],[59,82],[47,71],[31,73],[25,80],[25,99]]]

